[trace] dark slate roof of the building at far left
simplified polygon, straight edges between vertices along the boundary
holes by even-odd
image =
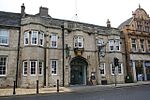
[[[0,25],[19,27],[21,14],[0,11]]]

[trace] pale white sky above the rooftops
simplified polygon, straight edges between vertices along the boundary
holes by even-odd
[[[19,13],[22,3],[28,14],[38,13],[43,6],[53,18],[74,20],[77,13],[78,21],[100,26],[110,19],[111,26],[118,27],[139,4],[150,14],[149,0],[0,0],[0,11]]]

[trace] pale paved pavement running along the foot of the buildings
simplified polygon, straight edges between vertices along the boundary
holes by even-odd
[[[59,92],[90,92],[90,91],[103,91],[113,88],[131,87],[139,85],[150,85],[150,81],[138,81],[136,83],[124,83],[124,84],[110,84],[110,85],[95,85],[95,86],[70,86],[59,87]],[[13,95],[31,95],[36,94],[36,89],[16,88],[16,93],[13,94],[13,88],[0,89],[0,96],[13,96]],[[39,94],[43,93],[57,93],[56,87],[40,88]]]

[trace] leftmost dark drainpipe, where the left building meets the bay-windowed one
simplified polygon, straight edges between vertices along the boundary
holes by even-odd
[[[21,28],[19,27],[19,36],[18,36],[18,48],[17,48],[17,66],[16,66],[16,88],[18,87],[18,68],[19,68],[19,55],[20,55],[20,36],[21,36]]]

